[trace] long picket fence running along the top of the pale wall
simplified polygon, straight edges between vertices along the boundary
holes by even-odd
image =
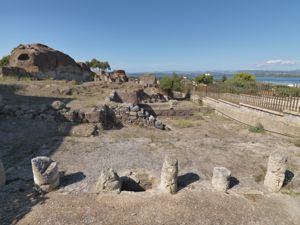
[[[251,89],[233,89],[222,86],[201,86],[194,89],[195,94],[201,97],[207,96],[213,99],[222,99],[232,103],[244,103],[273,111],[283,112],[285,110],[300,112],[300,98],[283,94],[276,89],[252,87]],[[293,92],[294,93],[294,92]]]

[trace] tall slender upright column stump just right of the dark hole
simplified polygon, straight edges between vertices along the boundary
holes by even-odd
[[[166,156],[161,170],[161,189],[164,192],[177,192],[178,161],[172,156]]]

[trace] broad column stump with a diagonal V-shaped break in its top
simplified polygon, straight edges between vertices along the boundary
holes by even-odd
[[[57,163],[52,159],[39,156],[31,160],[35,185],[44,192],[50,192],[59,186]]]

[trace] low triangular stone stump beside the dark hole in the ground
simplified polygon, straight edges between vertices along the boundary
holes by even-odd
[[[111,168],[106,168],[101,172],[96,183],[96,193],[120,192],[121,182],[118,174]]]

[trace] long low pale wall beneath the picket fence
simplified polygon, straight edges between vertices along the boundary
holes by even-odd
[[[283,113],[246,104],[233,104],[209,97],[202,99],[203,105],[214,108],[226,117],[255,126],[260,122],[265,130],[288,136],[300,136],[300,115],[285,111]]]

